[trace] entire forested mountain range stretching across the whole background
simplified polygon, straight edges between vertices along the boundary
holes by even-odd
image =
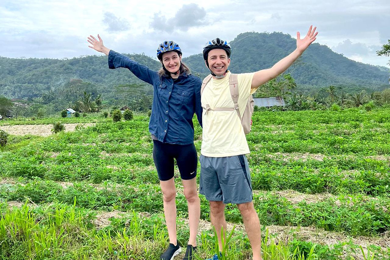
[[[245,32],[231,42],[231,71],[253,72],[267,69],[296,47],[296,40],[281,32]],[[158,70],[160,63],[141,54],[125,54]],[[201,54],[184,58],[192,74],[206,76]],[[388,87],[389,70],[355,62],[317,43],[295,64],[291,75],[298,89],[336,85],[380,90]],[[77,84],[75,84],[75,82]],[[83,56],[72,59],[15,59],[0,57],[0,95],[13,99],[35,99],[47,95],[80,96],[84,91],[104,94],[114,99],[114,87],[142,83],[126,69],[109,70],[106,56]],[[73,88],[72,88],[73,86]],[[50,98],[49,98],[50,99]]]

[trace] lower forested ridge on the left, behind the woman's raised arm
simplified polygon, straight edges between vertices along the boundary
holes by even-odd
[[[125,55],[152,70],[160,68],[158,61],[146,55]],[[113,87],[120,84],[143,83],[127,69],[109,70],[107,56],[94,55],[61,60],[0,57],[0,95],[8,98],[37,98],[50,91],[66,92],[75,79],[78,79],[78,87],[84,87],[80,89],[80,93],[111,93]]]

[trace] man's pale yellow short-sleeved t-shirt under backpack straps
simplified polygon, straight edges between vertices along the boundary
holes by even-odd
[[[211,79],[202,92],[202,107],[234,108],[234,102],[229,87],[230,72],[222,79]],[[251,89],[254,73],[238,74],[238,105],[241,115],[244,113],[249,95],[256,89]],[[226,157],[248,154],[249,147],[244,129],[237,112],[212,111],[205,114],[203,109],[203,140],[201,153],[208,157]]]

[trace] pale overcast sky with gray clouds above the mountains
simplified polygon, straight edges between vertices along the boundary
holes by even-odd
[[[208,40],[242,32],[280,31],[296,38],[317,26],[316,42],[344,56],[390,68],[376,51],[390,39],[389,0],[0,0],[0,56],[72,58],[99,54],[87,36],[125,53],[155,57],[164,40],[183,57]],[[318,3],[316,3],[318,2]]]

